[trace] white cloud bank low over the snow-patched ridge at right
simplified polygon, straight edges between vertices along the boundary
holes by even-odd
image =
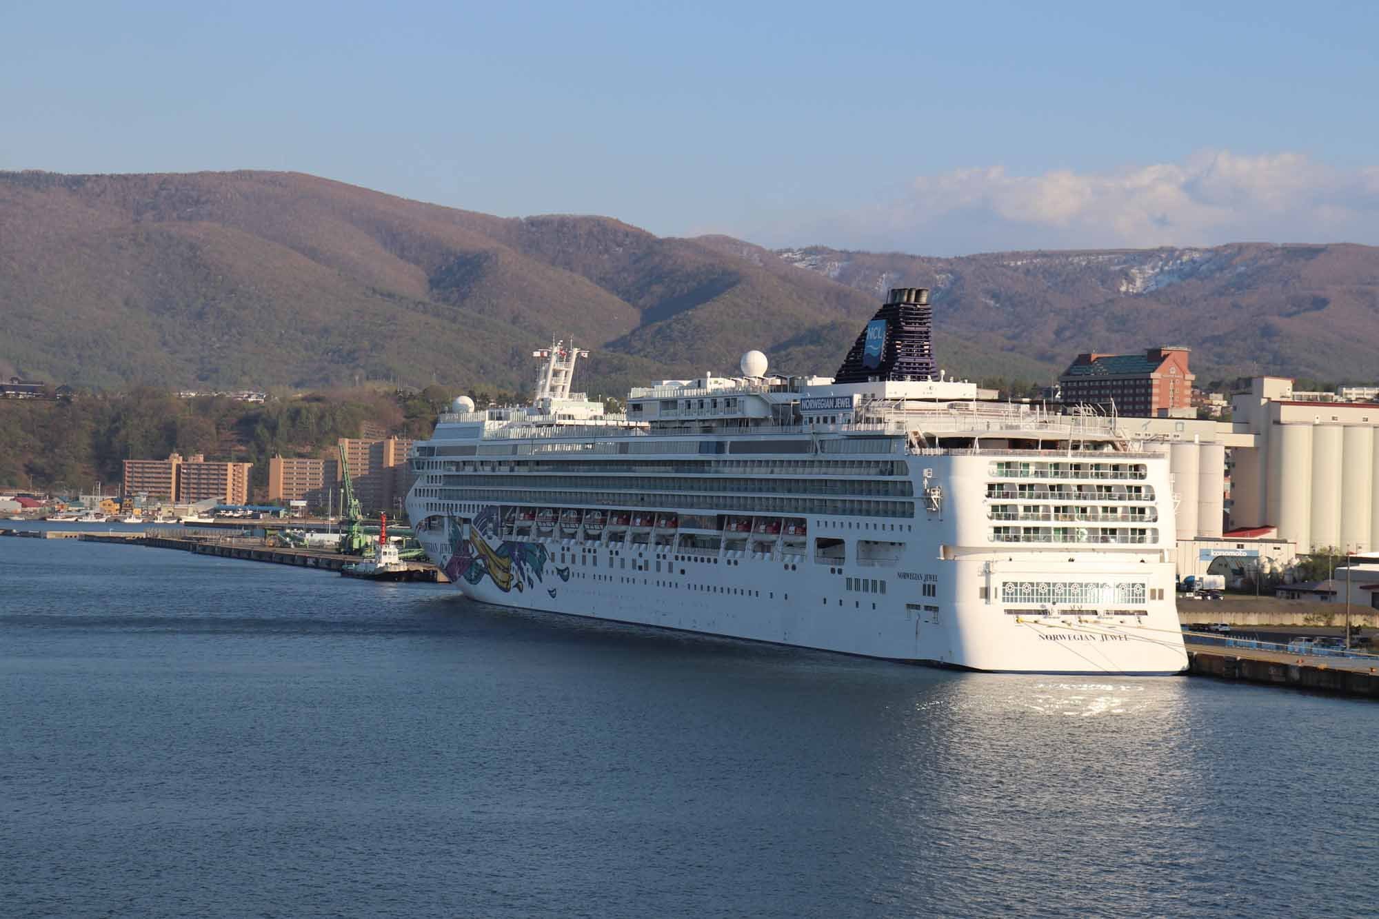
[[[1202,150],[1117,172],[1015,175],[1003,166],[921,175],[899,200],[805,228],[847,248],[960,254],[1007,248],[1379,243],[1379,167],[1303,153]]]

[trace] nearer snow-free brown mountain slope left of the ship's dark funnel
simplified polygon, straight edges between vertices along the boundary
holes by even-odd
[[[786,341],[822,341],[827,362],[779,367],[832,370],[873,298],[775,268],[608,218],[505,219],[298,174],[0,174],[0,360],[81,384],[513,386],[553,335],[600,349],[586,385],[610,392]]]

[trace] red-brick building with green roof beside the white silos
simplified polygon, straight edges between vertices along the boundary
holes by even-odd
[[[1150,348],[1134,355],[1078,355],[1058,378],[1063,404],[1116,404],[1117,413],[1157,418],[1190,411],[1189,348]]]

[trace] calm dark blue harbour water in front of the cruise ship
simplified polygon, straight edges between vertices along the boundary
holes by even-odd
[[[1376,735],[0,540],[7,916],[1373,915]]]

